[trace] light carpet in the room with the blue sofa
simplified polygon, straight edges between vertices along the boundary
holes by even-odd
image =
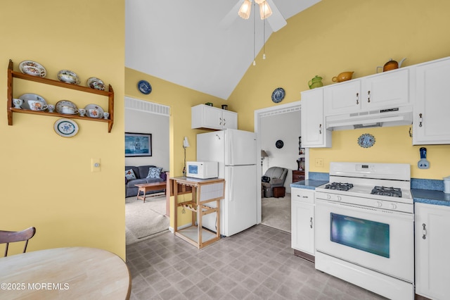
[[[125,198],[126,244],[134,244],[169,229],[170,220],[165,215],[166,197],[146,198],[146,203],[136,196]]]

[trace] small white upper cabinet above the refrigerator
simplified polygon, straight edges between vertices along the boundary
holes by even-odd
[[[191,127],[210,129],[238,129],[238,113],[200,104],[191,108]]]

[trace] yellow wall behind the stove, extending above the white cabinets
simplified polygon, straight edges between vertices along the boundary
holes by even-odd
[[[271,93],[286,92],[281,104],[300,100],[300,92],[315,75],[324,85],[331,78],[352,70],[354,77],[375,73],[389,58],[404,65],[450,56],[449,1],[433,5],[420,0],[322,0],[293,18],[266,43],[257,65],[250,65],[229,98],[239,113],[240,129],[253,130],[253,111],[274,106]],[[251,49],[249,49],[251,51]],[[243,101],[245,99],[245,101]],[[356,144],[363,133],[375,136],[375,145],[363,149]],[[420,170],[418,149],[412,146],[409,126],[333,132],[333,148],[311,149],[310,171],[328,173],[330,161],[410,163],[411,177],[442,180],[450,175],[450,146],[426,146],[430,169]],[[314,166],[316,158],[324,167]]]

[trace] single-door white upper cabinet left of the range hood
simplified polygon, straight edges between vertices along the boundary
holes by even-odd
[[[326,130],[323,115],[323,89],[302,92],[302,146],[330,148],[331,132]]]

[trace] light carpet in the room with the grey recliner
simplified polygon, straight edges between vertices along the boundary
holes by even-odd
[[[290,232],[290,194],[284,198],[262,198],[262,225]]]

